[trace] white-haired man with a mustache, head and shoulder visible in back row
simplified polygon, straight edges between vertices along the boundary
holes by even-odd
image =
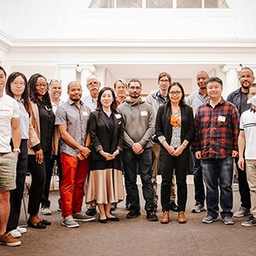
[[[91,75],[87,78],[86,86],[87,89],[90,91],[90,95],[84,96],[82,101],[88,108],[90,108],[91,111],[96,110],[101,82],[97,79],[95,75]]]

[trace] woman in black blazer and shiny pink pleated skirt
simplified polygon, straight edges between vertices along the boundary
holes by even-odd
[[[116,111],[113,89],[104,87],[98,96],[96,111],[90,113],[90,177],[86,202],[96,202],[100,223],[119,221],[111,205],[124,200],[122,165],[123,119]]]

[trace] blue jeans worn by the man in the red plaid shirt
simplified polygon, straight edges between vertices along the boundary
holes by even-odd
[[[213,218],[218,217],[218,185],[220,189],[221,217],[232,217],[233,207],[233,158],[201,160],[204,181],[207,186],[207,211]]]

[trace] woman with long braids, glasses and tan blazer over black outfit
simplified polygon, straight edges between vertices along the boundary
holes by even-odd
[[[38,217],[40,201],[42,199],[44,183],[49,170],[52,153],[52,140],[55,130],[55,114],[49,99],[48,84],[44,76],[35,73],[28,81],[31,100],[31,120],[36,131],[39,143],[32,145],[28,141],[28,170],[32,175],[32,184],[29,192],[27,224],[36,229],[45,229],[50,224],[47,220]],[[56,146],[56,144],[54,144]]]

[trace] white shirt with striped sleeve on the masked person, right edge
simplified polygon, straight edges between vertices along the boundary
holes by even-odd
[[[240,130],[246,138],[245,159],[256,160],[256,111],[248,109],[241,114]]]

